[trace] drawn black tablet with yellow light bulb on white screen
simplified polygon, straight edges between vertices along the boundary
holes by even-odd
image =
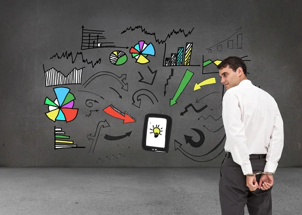
[[[152,152],[169,151],[172,118],[162,114],[145,115],[142,134],[142,149]]]

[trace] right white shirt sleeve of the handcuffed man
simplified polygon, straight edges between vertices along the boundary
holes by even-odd
[[[276,115],[274,120],[274,127],[272,134],[269,140],[269,146],[266,154],[266,164],[264,167],[265,172],[272,172],[275,174],[275,171],[278,166],[278,161],[281,158],[283,145],[284,145],[284,133],[283,133],[283,120],[276,105]]]

